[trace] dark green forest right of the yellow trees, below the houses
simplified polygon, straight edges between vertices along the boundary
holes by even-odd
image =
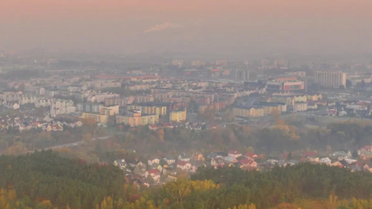
[[[247,173],[238,168],[199,168],[192,176],[192,180],[204,179],[224,185],[214,194],[220,203],[228,196],[228,203],[251,202],[257,208],[270,208],[296,199],[327,199],[330,194],[340,199],[369,199],[372,193],[371,173],[352,173],[344,168],[310,163],[275,167],[264,173]]]

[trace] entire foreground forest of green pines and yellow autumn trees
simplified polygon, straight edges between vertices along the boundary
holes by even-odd
[[[50,151],[0,157],[0,208],[253,209],[371,208],[372,174],[299,164],[271,171],[199,168],[149,190],[127,184],[113,165],[86,164]],[[365,199],[365,200],[363,200]]]

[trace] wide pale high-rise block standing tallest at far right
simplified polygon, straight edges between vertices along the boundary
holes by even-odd
[[[341,85],[346,87],[346,73],[341,71],[337,72],[324,72],[324,71],[315,71],[314,83],[327,86],[339,88]]]

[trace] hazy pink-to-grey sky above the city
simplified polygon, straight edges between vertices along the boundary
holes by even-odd
[[[0,3],[0,51],[372,51],[372,0]]]

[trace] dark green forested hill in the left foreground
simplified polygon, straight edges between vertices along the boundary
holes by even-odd
[[[25,202],[50,200],[63,208],[94,208],[106,196],[121,197],[124,182],[117,167],[88,165],[51,151],[0,157],[0,188],[14,189]]]

